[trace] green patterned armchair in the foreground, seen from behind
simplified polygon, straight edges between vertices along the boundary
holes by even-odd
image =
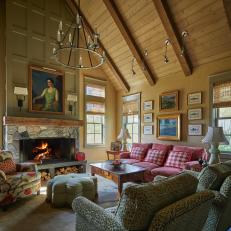
[[[118,208],[103,209],[77,197],[72,204],[76,231],[201,231],[214,194],[195,193],[197,182],[183,173],[157,184],[129,184]]]

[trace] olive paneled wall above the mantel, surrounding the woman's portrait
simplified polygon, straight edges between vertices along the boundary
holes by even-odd
[[[71,116],[67,104],[65,115],[30,113],[28,112],[28,97],[20,112],[16,96],[13,94],[14,86],[28,87],[29,64],[64,71],[65,99],[68,92],[78,94],[78,72],[64,69],[51,59],[60,20],[63,21],[66,29],[72,21],[63,0],[6,1],[7,115],[48,118],[78,117],[78,110]]]

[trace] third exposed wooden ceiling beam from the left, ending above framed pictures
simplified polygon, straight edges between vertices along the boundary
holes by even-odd
[[[166,0],[153,0],[154,6],[168,35],[170,43],[186,76],[192,74],[192,64],[187,51],[181,56],[181,34],[179,33]]]

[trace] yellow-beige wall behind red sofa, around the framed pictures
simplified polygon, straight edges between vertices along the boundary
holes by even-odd
[[[197,121],[190,121],[190,124],[203,124],[203,135],[207,131],[209,121],[209,75],[231,70],[231,58],[218,60],[214,63],[205,64],[194,68],[194,72],[191,76],[185,77],[183,73],[176,73],[161,78],[157,81],[155,86],[150,86],[146,81],[132,87],[130,93],[142,92],[141,95],[141,141],[142,142],[154,142],[156,141],[156,117],[159,113],[159,95],[165,91],[179,90],[179,113],[182,114],[182,141],[179,143],[201,145],[201,136],[188,136],[188,120],[187,120],[187,94],[195,91],[202,91],[202,105],[198,107],[203,108],[203,119]],[[134,77],[135,78],[135,77]],[[135,81],[135,79],[134,79]],[[130,94],[129,93],[129,94]],[[121,110],[121,96],[122,92],[118,93],[117,107]],[[154,134],[143,135],[143,102],[146,100],[154,100]],[[196,108],[197,106],[194,106]],[[190,107],[193,108],[193,107]],[[117,133],[121,127],[121,111],[117,111]],[[162,114],[162,113],[161,113]],[[164,114],[164,113],[163,113]],[[170,141],[158,141],[163,143],[169,143]],[[176,143],[172,141],[172,143]]]

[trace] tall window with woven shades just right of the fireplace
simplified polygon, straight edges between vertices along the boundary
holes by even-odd
[[[105,86],[85,82],[86,144],[104,145],[105,140]]]

